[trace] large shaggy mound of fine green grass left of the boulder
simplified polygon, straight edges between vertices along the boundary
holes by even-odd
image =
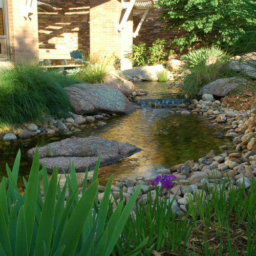
[[[45,114],[66,115],[70,104],[63,87],[73,82],[34,63],[0,70],[0,125],[42,120]]]

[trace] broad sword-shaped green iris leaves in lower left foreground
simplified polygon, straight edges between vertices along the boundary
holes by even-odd
[[[87,188],[87,174],[78,198],[74,165],[71,164],[67,181],[60,189],[57,168],[51,180],[45,166],[39,172],[39,152],[36,149],[26,191],[20,194],[16,185],[20,151],[11,172],[7,165],[8,178],[0,184],[0,254],[1,255],[103,255],[111,254],[120,233],[140,192],[135,191],[123,207],[123,201],[113,212],[108,210],[111,183],[109,179],[101,204],[98,205],[98,169],[96,164],[91,185]],[[43,181],[44,200],[41,196],[40,179]],[[66,199],[66,189],[69,196]],[[108,215],[108,218],[107,218]],[[147,242],[147,238],[143,244]],[[139,247],[140,248],[140,247]],[[138,248],[132,248],[134,255]],[[137,251],[137,252],[136,252]]]

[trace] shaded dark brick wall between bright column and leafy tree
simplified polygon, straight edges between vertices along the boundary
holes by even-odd
[[[142,15],[134,16],[134,31],[136,30]],[[175,50],[176,53],[179,53],[178,47],[169,47],[169,44],[182,32],[164,30],[167,25],[165,21],[159,21],[161,17],[161,10],[153,10],[147,13],[147,16],[142,24],[139,35],[134,38],[133,44],[138,45],[140,42],[145,42],[146,46],[152,46],[152,43],[158,38],[166,40],[166,52],[169,52],[170,49]]]

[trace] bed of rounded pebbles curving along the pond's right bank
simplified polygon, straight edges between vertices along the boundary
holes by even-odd
[[[228,150],[228,146],[223,145],[221,146],[223,153],[220,155],[215,155],[211,151],[199,158],[198,162],[188,160],[170,169],[157,170],[156,175],[173,174],[176,176],[176,179],[173,179],[173,187],[163,189],[162,193],[163,197],[171,199],[175,197],[171,206],[172,211],[177,215],[185,215],[189,198],[195,199],[196,195],[211,196],[213,189],[222,191],[223,186],[225,186],[227,195],[230,186],[234,189],[241,189],[243,184],[250,192],[252,180],[256,181],[256,108],[252,106],[252,109],[248,111],[235,111],[225,108],[225,105],[214,100],[212,95],[205,94],[200,101],[194,99],[191,104],[178,105],[173,109],[173,113],[204,115],[212,120],[210,126],[221,125],[223,133],[216,133],[216,136],[225,136],[232,140],[233,150]],[[152,198],[156,195],[156,187],[151,185],[155,178],[119,179],[112,189],[113,194],[118,202],[119,191],[122,188],[123,198],[127,202],[136,188],[142,185],[137,203],[145,204],[149,190],[151,190]],[[99,203],[103,195],[104,187],[99,186]],[[112,203],[115,208],[116,203],[113,198]]]

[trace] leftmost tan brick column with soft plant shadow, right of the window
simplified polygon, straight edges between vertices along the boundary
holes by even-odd
[[[28,0],[28,2],[31,0]],[[37,3],[32,1],[30,18],[25,18],[26,0],[8,0],[11,60],[38,60]]]

